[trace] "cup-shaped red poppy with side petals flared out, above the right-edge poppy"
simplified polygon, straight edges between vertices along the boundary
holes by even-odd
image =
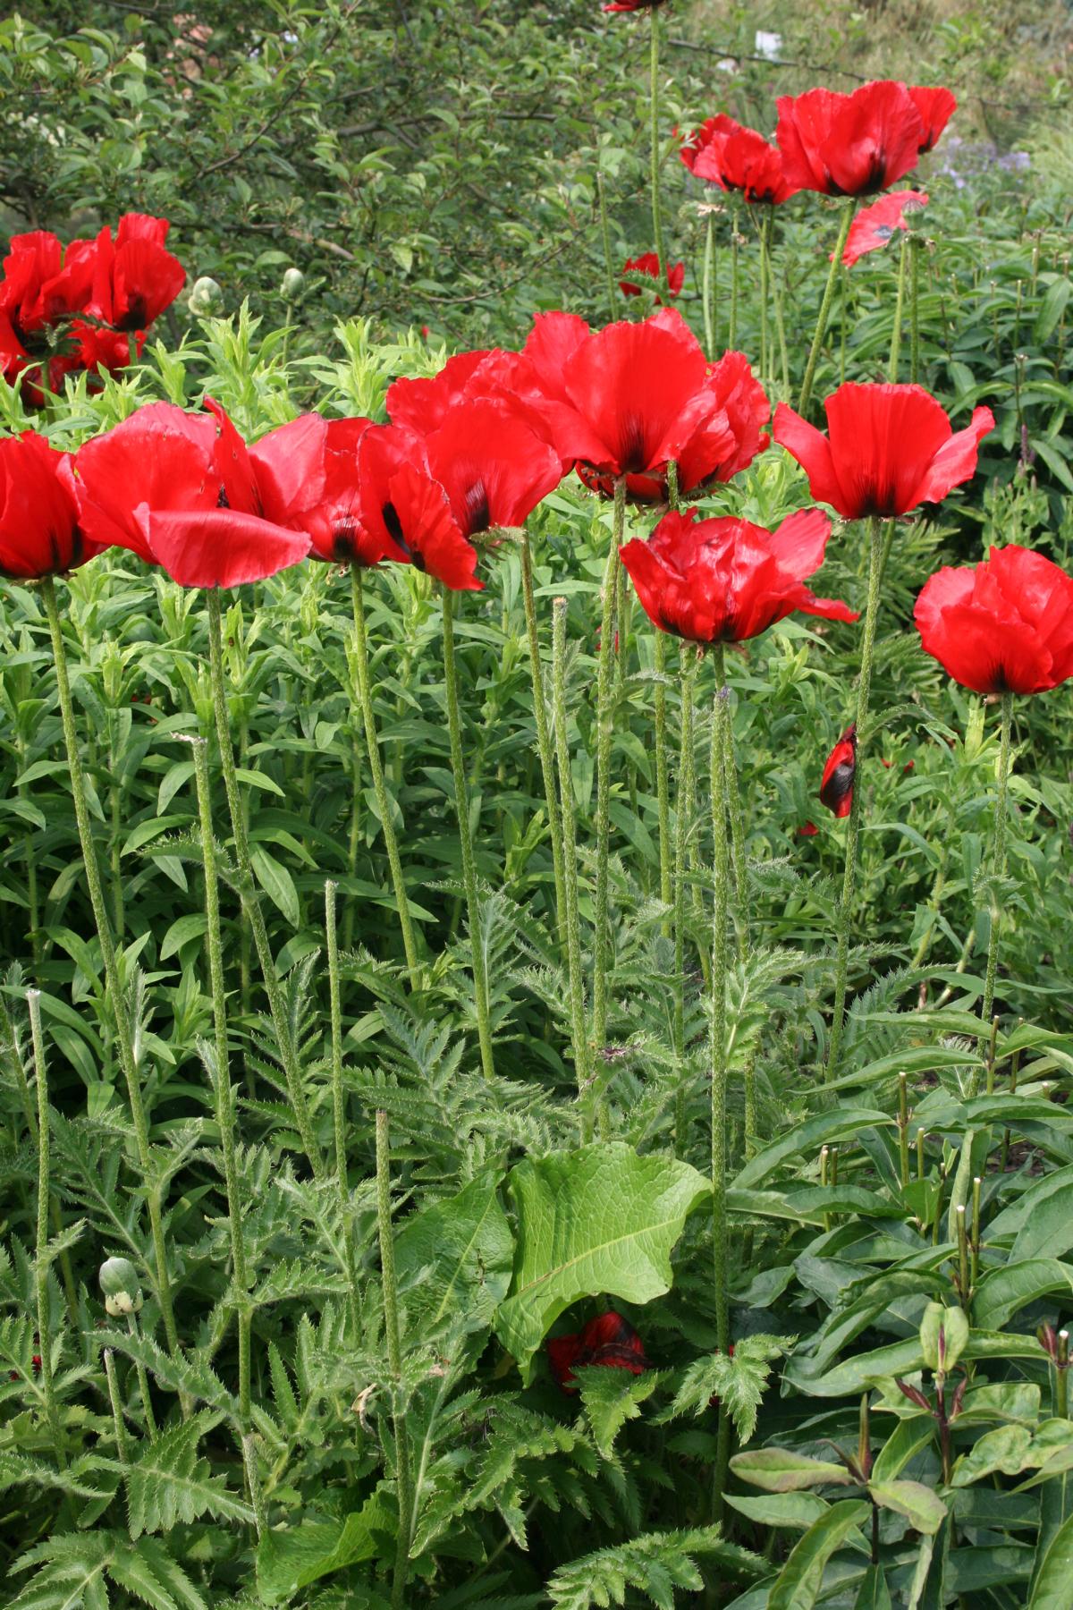
[[[975,473],[980,438],[994,427],[991,409],[978,407],[954,433],[943,404],[922,386],[846,382],[824,409],[827,436],[780,402],[772,436],[804,469],[812,497],[843,520],[941,502]]]

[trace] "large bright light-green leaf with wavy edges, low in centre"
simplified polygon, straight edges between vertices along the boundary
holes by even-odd
[[[510,1172],[518,1245],[495,1335],[523,1380],[563,1309],[586,1296],[650,1302],[671,1288],[671,1248],[709,1193],[674,1158],[639,1158],[623,1141],[526,1159]]]

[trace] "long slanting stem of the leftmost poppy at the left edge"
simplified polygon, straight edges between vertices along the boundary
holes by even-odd
[[[179,1357],[179,1331],[175,1330],[172,1285],[167,1272],[167,1251],[164,1246],[161,1188],[156,1180],[156,1167],[150,1150],[150,1125],[145,1116],[145,1103],[142,1101],[142,1084],[138,1080],[138,1064],[134,1055],[134,1035],[130,1032],[127,1000],[122,992],[119,961],[116,958],[116,947],[111,937],[108,906],[105,905],[105,890],[101,887],[100,865],[97,861],[97,847],[93,844],[93,829],[90,826],[90,811],[85,802],[85,776],[82,773],[82,755],[79,752],[79,736],[74,724],[74,700],[71,699],[71,679],[68,676],[68,652],[63,644],[63,626],[60,621],[60,607],[56,604],[56,589],[51,576],[45,576],[40,583],[40,596],[45,604],[45,617],[51,634],[51,652],[56,665],[60,716],[63,721],[63,741],[68,753],[68,771],[71,776],[74,819],[79,829],[82,863],[85,866],[85,886],[88,889],[93,921],[97,924],[97,939],[101,947],[101,960],[105,963],[105,984],[111,998],[113,1018],[116,1021],[119,1066],[122,1067],[124,1082],[127,1085],[127,1100],[130,1103],[130,1117],[134,1119],[138,1164],[142,1169],[142,1187],[145,1190],[146,1206],[150,1211],[150,1235],[153,1240],[153,1262],[156,1267],[156,1294],[161,1304],[161,1319],[164,1322],[164,1336],[167,1338],[169,1352]]]

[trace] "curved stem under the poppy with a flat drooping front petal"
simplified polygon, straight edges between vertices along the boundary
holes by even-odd
[[[246,818],[243,815],[243,800],[238,792],[238,776],[235,771],[235,750],[232,747],[232,733],[227,720],[227,687],[224,683],[224,626],[220,613],[220,589],[209,588],[206,591],[209,604],[209,671],[212,678],[212,707],[216,715],[216,737],[217,749],[220,752],[220,770],[224,773],[224,789],[227,792],[227,808],[232,818],[232,837],[235,840],[235,861],[238,863],[238,894],[241,898],[243,914],[249,924],[253,934],[253,942],[257,952],[257,961],[261,963],[261,977],[264,980],[265,995],[269,997],[269,1014],[272,1018],[272,1027],[278,1042],[280,1061],[283,1064],[283,1077],[286,1080],[286,1093],[294,1111],[294,1121],[298,1122],[298,1133],[302,1141],[302,1150],[309,1159],[309,1166],[317,1179],[323,1174],[323,1159],[320,1156],[320,1148],[314,1137],[312,1124],[309,1121],[309,1104],[306,1101],[306,1088],[302,1085],[302,1074],[298,1063],[298,1050],[294,1046],[294,1035],[291,1034],[291,1024],[286,1011],[286,1001],[283,990],[280,989],[280,977],[275,971],[275,956],[272,955],[272,943],[269,940],[269,929],[264,919],[264,911],[261,910],[261,898],[257,895],[257,886],[253,874],[253,860],[249,857],[249,839],[246,834]]]

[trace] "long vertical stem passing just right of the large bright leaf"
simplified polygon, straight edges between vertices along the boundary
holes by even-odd
[[[711,713],[711,826],[714,839],[714,919],[711,931],[711,1253],[716,1288],[716,1346],[730,1346],[730,1296],[727,1270],[727,914],[730,845],[727,836],[727,736],[730,694],[726,686],[722,644],[713,649],[716,702]],[[722,1513],[722,1492],[730,1457],[726,1406],[719,1410],[714,1470],[714,1517]]]

